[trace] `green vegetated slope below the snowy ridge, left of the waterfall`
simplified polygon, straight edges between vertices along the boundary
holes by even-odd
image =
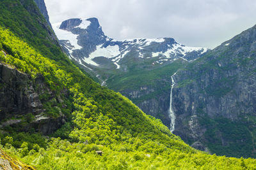
[[[163,97],[168,97],[171,89],[172,74],[181,67],[186,66],[188,62],[179,59],[162,66],[157,64],[156,60],[154,58],[143,62],[131,62],[135,66],[129,66],[129,71],[113,73],[108,78],[108,87],[129,97],[137,106],[151,99],[159,100],[163,99]],[[131,97],[129,93],[133,91],[140,92],[140,95]],[[165,122],[169,121],[166,120],[163,111],[159,110],[158,113],[154,113],[154,116],[161,118],[163,122],[164,120]]]

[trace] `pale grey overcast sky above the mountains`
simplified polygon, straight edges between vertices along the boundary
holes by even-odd
[[[114,39],[174,38],[214,48],[256,24],[255,0],[45,0],[51,23],[99,19]]]

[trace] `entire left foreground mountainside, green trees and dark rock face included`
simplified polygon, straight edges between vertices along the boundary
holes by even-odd
[[[4,103],[8,110],[17,110],[0,120],[1,125],[12,122],[0,127],[4,152],[36,169],[256,168],[255,159],[218,157],[191,148],[160,120],[93,81],[52,39],[33,0],[3,0],[0,10],[1,95],[10,99],[10,106]],[[54,132],[42,134],[33,127],[39,101],[40,120],[66,118]],[[20,102],[28,104],[23,113]],[[12,158],[6,160],[2,153],[4,167]]]

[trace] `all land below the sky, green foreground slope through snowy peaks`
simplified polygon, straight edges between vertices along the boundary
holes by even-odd
[[[256,169],[255,26],[209,50],[0,11],[0,169]]]

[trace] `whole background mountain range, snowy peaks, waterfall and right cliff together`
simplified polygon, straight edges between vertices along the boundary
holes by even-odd
[[[254,84],[253,71],[246,69],[253,67],[253,28],[213,50],[184,46],[172,38],[116,41],[105,36],[97,18],[66,20],[54,30],[70,59],[92,76],[97,75],[102,85],[161,119],[189,145],[220,155],[255,157],[254,137],[250,135],[255,122],[248,125],[244,121],[248,115],[254,117],[253,90],[245,93]],[[74,37],[69,40],[65,35]],[[239,45],[234,46],[234,42]],[[201,76],[206,73],[206,77]],[[247,77],[250,85],[237,80],[237,74],[243,73],[251,75]],[[243,99],[237,83],[246,88],[241,87]],[[240,110],[241,104],[247,108]],[[223,131],[221,122],[227,123],[230,131]],[[243,135],[238,132],[241,129]]]

